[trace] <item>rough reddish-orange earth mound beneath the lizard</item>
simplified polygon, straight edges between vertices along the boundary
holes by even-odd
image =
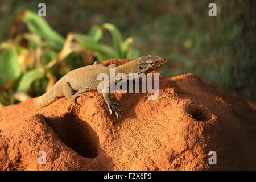
[[[125,63],[109,60],[104,64]],[[32,99],[0,109],[1,170],[256,169],[256,111],[199,77],[160,75],[159,98],[115,93],[121,118],[98,92],[36,110]],[[46,165],[38,164],[39,151]],[[217,164],[208,152],[217,152]]]

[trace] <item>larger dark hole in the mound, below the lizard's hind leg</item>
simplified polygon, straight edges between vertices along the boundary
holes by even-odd
[[[60,140],[85,158],[96,158],[98,137],[96,132],[73,113],[64,117],[46,118],[46,122]]]

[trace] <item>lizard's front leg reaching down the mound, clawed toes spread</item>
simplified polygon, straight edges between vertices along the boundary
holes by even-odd
[[[110,115],[112,114],[112,110],[113,110],[115,115],[117,115],[117,118],[118,116],[121,116],[121,111],[118,109],[117,106],[115,106],[118,104],[113,102],[111,99],[109,86],[106,86],[106,88],[102,87],[102,94],[106,104],[108,105]]]

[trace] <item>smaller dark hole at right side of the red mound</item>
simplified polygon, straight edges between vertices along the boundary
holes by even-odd
[[[195,105],[190,106],[188,114],[192,115],[192,118],[197,121],[208,121],[212,119],[212,114],[208,109]]]

